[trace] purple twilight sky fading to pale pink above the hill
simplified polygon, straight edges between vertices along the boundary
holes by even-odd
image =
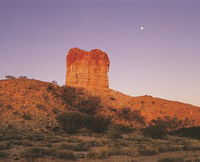
[[[62,85],[72,47],[107,52],[115,90],[200,106],[199,0],[0,0],[0,79]]]

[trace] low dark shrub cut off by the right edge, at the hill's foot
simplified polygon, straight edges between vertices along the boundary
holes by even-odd
[[[175,131],[175,134],[200,139],[200,127],[180,128]]]

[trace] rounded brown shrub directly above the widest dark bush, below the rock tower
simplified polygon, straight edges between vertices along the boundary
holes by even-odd
[[[101,108],[101,99],[96,96],[89,96],[88,98],[82,99],[76,105],[74,105],[74,110],[89,115],[96,114]]]

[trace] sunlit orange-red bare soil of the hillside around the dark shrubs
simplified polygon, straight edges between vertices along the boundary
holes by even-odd
[[[33,79],[0,80],[0,125],[23,128],[54,126],[56,114],[69,107],[63,102],[62,89],[58,85]],[[193,126],[200,125],[200,107],[197,106],[151,96],[131,97],[112,89],[88,91],[77,88],[77,91],[81,91],[79,93],[84,97],[99,96],[104,113],[112,114],[111,110],[128,107],[139,110],[147,123],[157,117],[170,116],[188,119]]]

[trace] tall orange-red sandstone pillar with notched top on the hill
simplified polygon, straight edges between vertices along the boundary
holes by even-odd
[[[72,48],[67,54],[66,85],[87,89],[109,88],[108,55],[99,50],[84,51]]]

